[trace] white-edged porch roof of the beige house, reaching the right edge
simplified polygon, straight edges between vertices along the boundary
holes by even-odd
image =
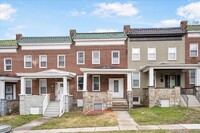
[[[161,69],[161,70],[164,70],[164,69],[196,69],[196,68],[199,68],[200,67],[200,64],[171,64],[171,63],[163,63],[163,64],[147,64],[146,66],[144,67],[141,67],[140,70],[143,71],[143,72],[147,72],[149,71],[150,68],[153,68],[153,69]]]

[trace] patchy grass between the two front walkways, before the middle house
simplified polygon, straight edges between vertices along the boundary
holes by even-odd
[[[41,126],[33,129],[78,128],[95,126],[116,126],[117,118],[114,112],[101,115],[83,115],[80,111],[73,111],[55,117]]]

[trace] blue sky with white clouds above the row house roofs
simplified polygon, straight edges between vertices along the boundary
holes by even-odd
[[[200,22],[200,0],[0,0],[0,40]]]

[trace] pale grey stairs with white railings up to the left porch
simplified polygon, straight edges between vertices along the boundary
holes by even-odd
[[[50,101],[44,116],[54,117],[54,116],[59,116],[59,114],[60,114],[60,102]]]

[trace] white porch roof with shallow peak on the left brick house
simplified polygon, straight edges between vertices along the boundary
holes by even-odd
[[[72,72],[66,72],[56,69],[50,69],[35,73],[16,73],[16,74],[17,76],[26,78],[62,78],[62,77],[72,78],[76,75],[75,73]]]

